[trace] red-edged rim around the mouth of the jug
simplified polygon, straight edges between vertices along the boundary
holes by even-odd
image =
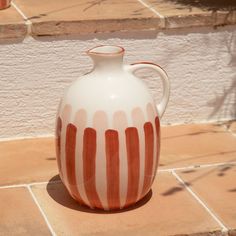
[[[95,46],[87,51],[88,55],[98,56],[117,56],[124,54],[125,49],[116,45],[99,45]]]

